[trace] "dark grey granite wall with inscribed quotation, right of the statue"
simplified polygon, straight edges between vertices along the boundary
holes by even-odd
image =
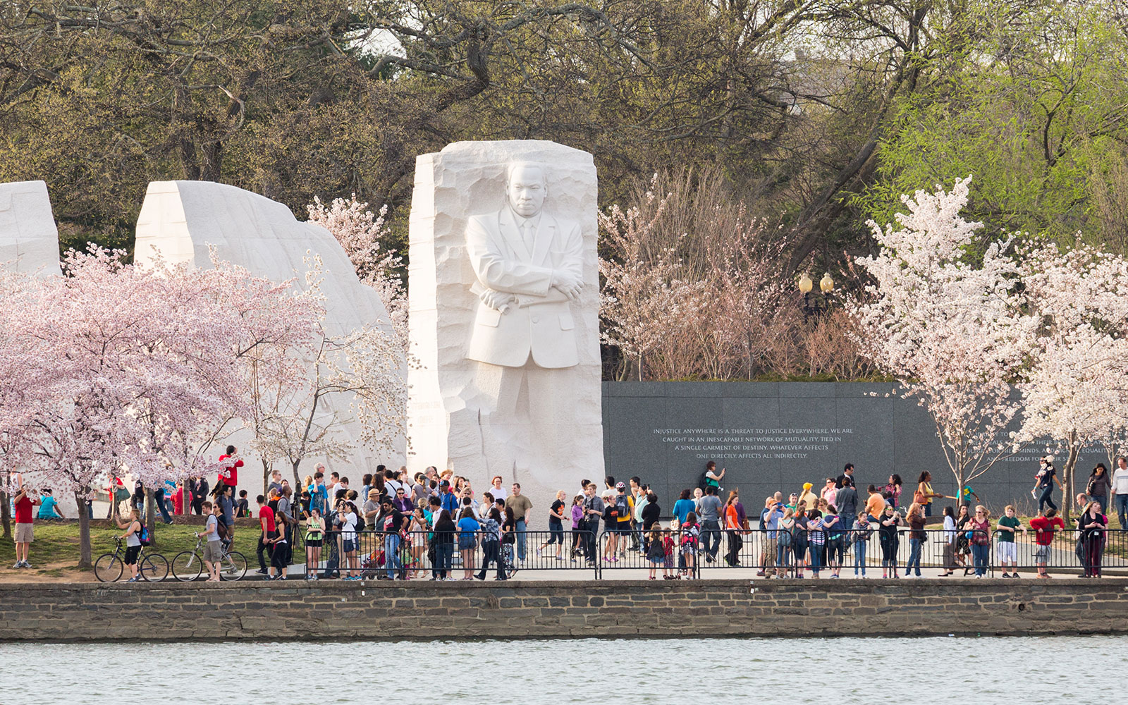
[[[608,474],[643,477],[667,512],[710,459],[728,470],[722,485],[739,487],[750,512],[777,490],[799,492],[810,482],[818,491],[846,462],[855,465],[863,499],[865,485],[883,485],[892,473],[910,493],[926,469],[937,492],[957,490],[932,418],[889,384],[603,382],[603,447]],[[1033,511],[1030,490],[1045,451],[1031,444],[971,486],[997,511],[1007,502]],[[1078,469],[1087,476],[1100,461],[1108,464],[1103,448],[1087,448]]]

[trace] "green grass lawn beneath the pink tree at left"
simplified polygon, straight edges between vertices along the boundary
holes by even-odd
[[[195,548],[196,531],[202,531],[196,525],[162,525],[156,529],[156,545],[146,548],[146,553],[159,553],[169,562],[182,550]],[[104,553],[114,550],[114,537],[123,531],[111,528],[105,520],[96,520],[90,526],[91,561],[97,561]],[[247,570],[257,570],[255,549],[258,547],[258,527],[253,520],[237,520],[235,529],[235,550],[247,557]],[[79,558],[78,521],[36,521],[35,540],[32,543],[29,562],[30,571],[17,571],[11,567],[16,562],[16,545],[11,539],[0,540],[0,575],[11,580],[24,578],[63,578],[95,580],[94,571],[81,571],[74,575]]]

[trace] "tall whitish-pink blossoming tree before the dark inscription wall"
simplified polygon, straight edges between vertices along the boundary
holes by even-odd
[[[897,379],[936,425],[955,496],[1011,455],[1021,409],[1011,381],[1028,360],[1034,321],[1022,312],[1013,238],[971,255],[978,222],[960,217],[970,177],[950,192],[902,196],[897,226],[871,222],[880,252],[857,264],[871,277],[852,305],[862,353]]]

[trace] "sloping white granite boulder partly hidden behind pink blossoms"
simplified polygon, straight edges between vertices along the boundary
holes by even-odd
[[[324,264],[321,292],[325,294],[325,328],[342,335],[361,325],[376,325],[391,333],[391,321],[371,287],[362,284],[344,249],[325,228],[299,222],[290,209],[256,193],[213,182],[152,182],[138,217],[135,259],[148,262],[157,250],[169,263],[192,262],[210,267],[208,246],[223,261],[274,281],[297,277],[303,284],[307,253],[320,255]],[[331,399],[327,413],[344,423],[352,440],[359,438],[349,399]],[[238,443],[237,443],[238,444]],[[360,475],[378,464],[398,468],[403,462],[404,439],[395,441],[397,455],[376,457],[358,443],[353,462],[338,464],[310,458],[303,467],[325,462],[360,486]],[[361,462],[363,460],[363,462]],[[359,467],[359,466],[364,467]],[[355,477],[353,477],[355,476]]]

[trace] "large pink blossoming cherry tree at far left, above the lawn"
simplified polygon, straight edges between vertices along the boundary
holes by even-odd
[[[244,270],[141,267],[122,254],[72,252],[64,276],[16,282],[20,306],[0,312],[0,369],[21,369],[0,381],[3,464],[74,494],[81,567],[99,483],[123,468],[149,485],[177,473],[187,439],[245,404],[248,353],[308,338],[317,312]]]

